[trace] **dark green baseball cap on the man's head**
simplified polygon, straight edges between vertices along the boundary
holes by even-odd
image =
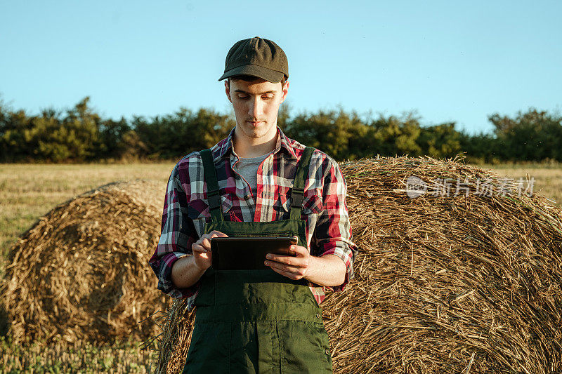
[[[283,76],[289,79],[287,55],[273,41],[254,36],[237,41],[224,64],[224,74],[219,81],[235,75],[257,76],[272,83],[280,82]]]

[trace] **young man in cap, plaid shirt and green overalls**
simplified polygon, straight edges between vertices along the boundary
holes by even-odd
[[[184,373],[331,373],[324,288],[353,277],[346,184],[324,152],[289,139],[277,112],[289,89],[273,41],[238,41],[225,81],[236,126],[171,172],[150,265],[158,288],[197,306]],[[296,236],[265,270],[211,269],[215,236]]]

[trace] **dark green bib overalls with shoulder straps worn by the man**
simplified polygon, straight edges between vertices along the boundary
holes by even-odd
[[[220,192],[209,149],[201,152],[212,222],[204,233],[228,236],[298,236],[304,182],[313,148],[306,147],[292,189],[288,220],[223,220]],[[322,309],[306,279],[294,281],[272,269],[221,270],[209,267],[195,298],[197,311],[183,373],[332,373]]]

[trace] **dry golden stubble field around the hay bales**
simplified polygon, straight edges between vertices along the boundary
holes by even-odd
[[[0,276],[4,276],[9,248],[42,215],[73,196],[117,180],[137,178],[166,184],[174,163],[37,165],[0,164]],[[535,193],[561,206],[562,165],[485,166],[499,175],[518,180],[534,178]],[[164,203],[164,196],[162,196]],[[148,259],[147,259],[148,261]],[[148,263],[147,263],[148,266]],[[155,278],[156,286],[156,278]],[[1,317],[1,316],[0,316]],[[0,318],[0,333],[5,333]],[[0,342],[0,373],[28,372],[115,372],[146,373],[154,353],[141,351],[141,342],[118,342],[112,347],[88,344],[63,348],[41,342],[17,347],[9,340]],[[27,368],[27,369],[25,369]]]

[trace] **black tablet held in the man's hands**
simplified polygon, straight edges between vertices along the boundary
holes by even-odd
[[[269,269],[266,254],[289,253],[296,239],[291,236],[238,236],[211,238],[211,267],[214,270]]]

